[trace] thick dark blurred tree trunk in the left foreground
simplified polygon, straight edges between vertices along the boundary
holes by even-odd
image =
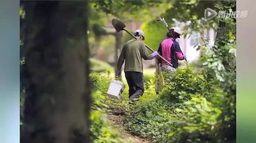
[[[23,143],[90,142],[87,1],[21,1]]]

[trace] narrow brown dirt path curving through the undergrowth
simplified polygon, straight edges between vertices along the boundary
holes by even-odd
[[[114,115],[112,113],[108,113],[108,120],[114,126],[114,128],[120,133],[120,136],[126,141],[131,141],[134,143],[149,143],[146,139],[134,136],[131,133],[124,130],[123,127],[123,115]]]

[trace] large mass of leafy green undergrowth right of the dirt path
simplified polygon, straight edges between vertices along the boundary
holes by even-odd
[[[141,100],[126,115],[131,133],[152,142],[200,142],[219,136],[223,91],[214,77],[190,67],[165,74],[158,97],[151,82]]]

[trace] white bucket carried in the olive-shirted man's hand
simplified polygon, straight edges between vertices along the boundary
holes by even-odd
[[[112,80],[108,87],[108,92],[107,92],[108,97],[120,99],[123,89],[124,89],[123,82],[119,80]]]

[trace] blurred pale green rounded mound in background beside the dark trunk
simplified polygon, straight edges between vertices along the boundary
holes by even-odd
[[[111,71],[112,67],[105,61],[100,61],[95,58],[90,58],[90,70],[93,70],[94,72],[105,72],[105,71]]]

